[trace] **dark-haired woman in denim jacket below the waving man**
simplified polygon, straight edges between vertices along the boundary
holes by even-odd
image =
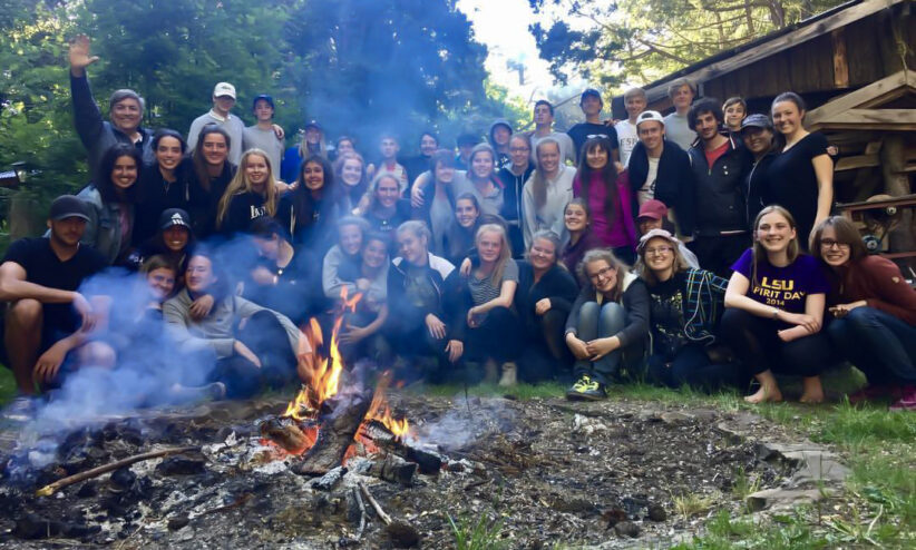
[[[136,147],[115,144],[101,157],[101,179],[77,195],[89,207],[81,242],[98,251],[109,264],[124,265],[133,251],[134,205],[142,166]]]

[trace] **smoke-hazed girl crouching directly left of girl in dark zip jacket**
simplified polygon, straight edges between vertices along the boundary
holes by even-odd
[[[344,313],[340,333],[341,354],[351,365],[363,357],[377,365],[390,361],[390,348],[382,336],[388,318],[389,239],[389,235],[367,234],[360,252],[359,271],[350,273],[350,266],[344,266],[341,275],[353,281],[357,293],[361,294],[355,311]],[[350,295],[348,299],[352,297]]]

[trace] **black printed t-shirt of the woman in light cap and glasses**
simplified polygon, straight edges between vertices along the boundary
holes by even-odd
[[[652,346],[656,355],[674,359],[686,343],[684,335],[684,299],[686,277],[683,272],[670,279],[649,287],[649,316],[652,327]]]

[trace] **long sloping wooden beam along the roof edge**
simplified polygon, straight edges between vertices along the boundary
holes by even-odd
[[[807,42],[808,40],[845,27],[884,9],[888,9],[897,3],[900,3],[903,0],[866,0],[856,6],[851,6],[848,9],[839,11],[834,16],[821,19],[820,21],[811,24],[805,24],[791,32],[777,36],[769,41],[764,41],[754,47],[739,51],[734,56],[722,59],[721,61],[703,66],[693,71],[678,71],[673,73],[672,77],[674,75],[679,78],[686,77],[695,84],[701,84],[712,78],[721,77],[722,75],[750,65],[754,61],[759,61],[760,59],[772,56],[773,53],[778,53],[802,42]],[[738,49],[740,50],[740,47]],[[667,79],[669,77],[665,78]],[[655,86],[650,85],[650,87],[646,88],[646,97],[649,102],[651,104],[660,97],[663,97],[667,92],[669,84],[669,80],[664,80]]]

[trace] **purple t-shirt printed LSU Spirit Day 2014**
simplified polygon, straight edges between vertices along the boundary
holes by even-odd
[[[826,294],[830,289],[818,261],[803,254],[786,267],[774,267],[763,258],[754,274],[753,253],[748,249],[731,268],[751,282],[748,296],[789,313],[805,313],[809,294]]]

